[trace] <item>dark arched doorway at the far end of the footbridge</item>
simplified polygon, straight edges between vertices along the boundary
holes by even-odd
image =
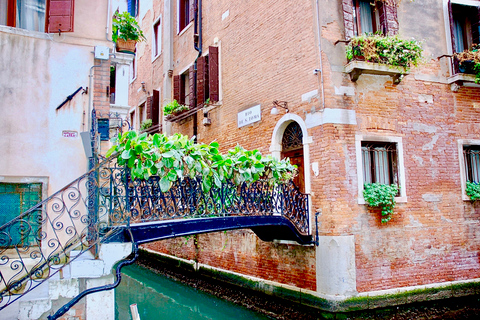
[[[295,121],[290,122],[283,132],[281,158],[290,158],[290,162],[298,167],[298,175],[293,182],[301,192],[305,192],[303,133],[300,125]]]

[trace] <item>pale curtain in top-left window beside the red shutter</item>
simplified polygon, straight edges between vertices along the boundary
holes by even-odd
[[[17,28],[45,32],[46,0],[17,0]]]

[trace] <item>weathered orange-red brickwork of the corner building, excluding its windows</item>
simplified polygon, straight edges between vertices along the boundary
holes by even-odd
[[[139,17],[148,41],[137,49],[130,105],[148,95],[139,90],[140,82],[150,94],[159,90],[163,104],[169,102],[173,92],[164,90],[173,88],[165,85],[172,81],[168,70],[179,75],[198,55],[194,26],[178,34],[177,1],[169,3],[154,1]],[[480,141],[480,87],[466,82],[452,91],[449,60],[437,59],[451,50],[443,1],[402,1],[396,12],[387,10],[393,33],[398,29],[402,37],[425,39],[423,61],[399,84],[375,74],[352,82],[344,72],[345,44],[335,42],[353,36],[347,30],[354,23],[349,0],[319,0],[319,18],[313,0],[204,1],[202,10],[203,49],[219,48],[220,101],[208,108],[211,125],[202,124],[202,110],[197,113],[199,141],[269,154],[275,126],[286,119],[283,109],[270,114],[272,101],[287,101],[289,114],[301,118],[307,130],[304,139],[311,138],[305,183],[312,221],[320,212],[320,236],[354,237],[357,292],[480,278],[480,211],[478,204],[464,200],[459,162],[459,141]],[[159,16],[166,23],[172,19],[173,29],[162,22],[162,54],[152,61],[151,25]],[[237,114],[258,104],[261,121],[239,128]],[[332,120],[329,112],[341,116]],[[354,114],[353,120],[345,120],[347,114]],[[191,116],[171,128],[164,125],[164,132],[191,136],[193,123]],[[405,197],[386,224],[359,199],[363,182],[357,175],[356,143],[362,137],[401,140]],[[193,238],[147,247],[299,288],[319,286],[314,246],[262,242],[249,230],[197,239],[197,247]]]

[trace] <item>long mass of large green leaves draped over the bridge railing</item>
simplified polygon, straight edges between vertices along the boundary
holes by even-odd
[[[127,131],[119,135],[116,144],[106,156],[117,155],[119,165],[126,165],[134,178],[160,177],[162,192],[168,191],[173,182],[184,177],[202,177],[202,189],[220,187],[222,182],[232,180],[236,185],[252,183],[259,179],[271,183],[291,180],[296,166],[289,159],[277,160],[262,156],[258,150],[248,151],[240,146],[226,154],[219,151],[218,142],[194,143],[185,135],[148,135]]]

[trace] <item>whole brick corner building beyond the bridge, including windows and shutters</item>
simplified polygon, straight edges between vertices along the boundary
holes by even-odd
[[[135,57],[132,122],[138,128],[159,110],[163,133],[290,157],[319,234],[318,246],[265,243],[241,230],[147,247],[325,297],[475,282],[480,217],[465,184],[478,181],[480,87],[451,55],[478,43],[479,7],[139,1],[148,41]],[[369,32],[422,41],[421,62],[408,74],[353,68],[346,43]],[[173,99],[190,110],[165,117]],[[388,223],[365,204],[367,182],[398,185]]]

